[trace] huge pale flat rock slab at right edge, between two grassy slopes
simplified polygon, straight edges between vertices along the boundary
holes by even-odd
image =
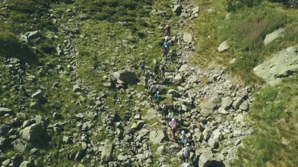
[[[267,84],[281,83],[298,71],[298,46],[289,47],[271,56],[271,59],[253,68],[253,72]]]

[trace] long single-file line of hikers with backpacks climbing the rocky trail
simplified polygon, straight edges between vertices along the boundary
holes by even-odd
[[[145,69],[145,59],[142,58],[140,62],[141,73],[145,76],[145,87],[149,91],[149,100],[154,103],[155,108],[161,112],[162,119],[167,120],[167,124],[171,130],[171,140],[176,142],[176,138],[179,137],[179,143],[182,148],[181,158],[183,164],[181,167],[190,167],[189,156],[190,156],[190,145],[187,143],[187,137],[185,131],[182,130],[180,135],[178,135],[178,123],[174,118],[173,107],[169,107],[166,102],[160,105],[162,101],[161,87],[157,84],[158,80],[165,79],[166,63],[173,63],[173,51],[170,50],[171,45],[171,27],[167,26],[164,33],[164,42],[162,50],[162,61],[160,63],[156,62],[153,67],[153,73],[150,70]]]

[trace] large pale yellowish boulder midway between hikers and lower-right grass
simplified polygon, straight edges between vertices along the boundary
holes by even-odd
[[[210,116],[219,106],[220,99],[218,97],[213,97],[202,101],[199,106],[201,108],[200,113],[203,117],[207,118]]]

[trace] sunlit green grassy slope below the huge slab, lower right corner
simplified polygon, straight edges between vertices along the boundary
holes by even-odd
[[[237,167],[295,167],[298,163],[298,77],[254,93],[248,121],[254,132],[238,149]]]

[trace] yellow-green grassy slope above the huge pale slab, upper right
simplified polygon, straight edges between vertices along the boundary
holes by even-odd
[[[230,19],[225,20],[227,9],[223,1],[196,0],[196,3],[200,6],[200,17],[189,22],[193,25],[189,31],[199,45],[192,59],[193,64],[207,66],[215,62],[228,65],[229,72],[245,83],[262,83],[252,73],[252,68],[273,53],[298,42],[298,11],[285,8],[282,4],[261,0],[247,4],[249,7],[234,6],[234,10],[229,11]],[[209,13],[209,8],[215,11]],[[286,28],[284,37],[264,46],[266,35],[280,27]],[[225,40],[231,48],[219,53],[217,47]],[[228,64],[232,58],[236,58],[236,62]]]

